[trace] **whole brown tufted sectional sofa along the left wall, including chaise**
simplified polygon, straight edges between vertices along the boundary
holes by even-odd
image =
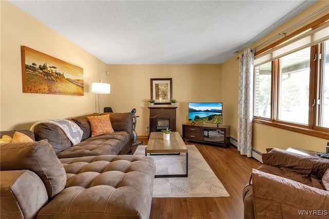
[[[53,126],[41,125],[34,130],[38,138],[48,132],[48,140],[35,139],[31,131],[20,131],[37,141],[2,143],[1,218],[149,218],[154,159],[116,155],[131,148],[131,139],[120,134],[127,126],[119,118],[129,120],[127,115],[131,116],[112,114],[113,129],[119,133],[104,134],[102,139],[89,137],[85,129],[84,140],[57,154],[53,147],[67,141]],[[88,127],[85,118],[74,119]],[[1,136],[13,136],[14,132],[1,132]],[[54,143],[56,138],[58,142]],[[75,147],[77,150],[71,149]]]

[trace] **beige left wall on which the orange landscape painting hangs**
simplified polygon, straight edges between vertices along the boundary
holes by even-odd
[[[35,121],[68,118],[95,112],[90,84],[98,82],[107,65],[7,1],[1,4],[0,130],[29,129]],[[21,45],[80,66],[84,96],[22,92]],[[106,103],[106,99],[102,103]]]

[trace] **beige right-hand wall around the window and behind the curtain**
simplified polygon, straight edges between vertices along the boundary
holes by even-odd
[[[261,43],[271,39],[272,36],[277,35],[283,30],[287,29],[291,25],[296,24],[297,22],[303,20],[306,16],[316,12],[320,8],[327,5],[327,1],[319,1],[307,8],[302,13],[295,16],[290,21],[286,22],[284,25],[280,26],[276,30],[269,33],[267,36],[259,40],[258,42],[250,45],[250,48],[254,48]],[[314,21],[315,19],[323,16],[324,13],[318,14],[314,17],[314,19],[310,21]],[[307,21],[306,23],[309,23]],[[303,23],[302,25],[305,25]],[[301,26],[301,25],[300,25]],[[297,28],[300,28],[298,26]],[[290,32],[295,31],[295,29],[290,30]],[[273,41],[274,42],[274,41]],[[270,42],[270,43],[273,43]],[[261,48],[261,47],[260,47]],[[239,77],[239,61],[237,58],[239,56],[235,56],[223,63],[222,65],[222,81],[223,83],[223,101],[225,105],[232,105],[231,108],[234,110],[233,113],[226,115],[226,118],[230,120],[231,125],[231,136],[237,139],[237,94],[238,94],[238,77]],[[224,112],[223,112],[224,113]],[[282,129],[278,129],[276,127],[271,127],[263,124],[253,123],[253,135],[252,135],[252,147],[260,151],[262,153],[266,152],[266,148],[280,148],[287,149],[289,147],[296,147],[302,149],[308,149],[313,151],[325,151],[326,142],[329,139],[321,139],[317,137],[312,137],[308,135],[299,134],[296,132],[286,131]]]

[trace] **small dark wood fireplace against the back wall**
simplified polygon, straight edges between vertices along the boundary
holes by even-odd
[[[176,132],[176,108],[177,107],[149,107],[150,109],[150,133],[161,132],[170,129]]]

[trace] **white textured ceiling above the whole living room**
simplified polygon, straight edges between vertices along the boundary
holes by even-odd
[[[107,64],[218,64],[316,1],[10,1]]]

